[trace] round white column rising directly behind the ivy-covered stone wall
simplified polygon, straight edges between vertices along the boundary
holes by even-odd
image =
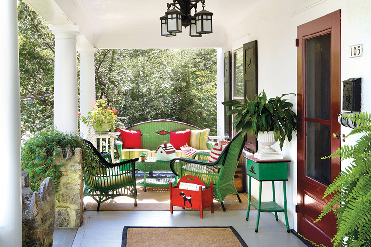
[[[79,26],[50,26],[55,35],[54,127],[78,132],[76,36]]]

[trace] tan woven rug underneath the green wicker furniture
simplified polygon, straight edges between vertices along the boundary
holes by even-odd
[[[236,195],[227,195],[224,199],[224,207],[226,210],[247,210],[248,207],[248,194],[239,193],[242,203],[239,203]],[[170,198],[168,188],[147,188],[144,192],[143,189],[137,189],[137,203],[138,206],[134,206],[134,199],[126,196],[119,196],[110,199],[100,204],[99,210],[136,210],[136,211],[170,211]],[[98,203],[93,198],[87,196],[84,197],[84,209],[85,210],[96,210]],[[174,210],[183,210],[181,207],[173,207]],[[254,209],[254,207],[251,207]],[[185,210],[193,210],[187,209]],[[210,210],[206,208],[206,210]],[[222,210],[222,206],[219,202],[214,200],[214,210]]]

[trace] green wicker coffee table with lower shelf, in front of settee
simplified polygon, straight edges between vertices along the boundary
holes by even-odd
[[[147,187],[169,187],[169,183],[177,184],[177,176],[174,178],[147,178],[146,173],[158,170],[171,171],[170,161],[156,160],[154,157],[146,158],[145,161],[137,161],[135,169],[144,173],[144,178],[137,180],[137,185],[143,186],[144,191]]]

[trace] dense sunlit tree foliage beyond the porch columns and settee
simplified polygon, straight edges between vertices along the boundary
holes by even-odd
[[[25,137],[53,126],[55,42],[48,23],[22,0],[18,22]],[[215,49],[99,49],[95,82],[96,98],[118,109],[117,127],[171,119],[216,134]]]

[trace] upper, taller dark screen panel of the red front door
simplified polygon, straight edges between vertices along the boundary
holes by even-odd
[[[331,36],[305,41],[306,117],[331,119]]]

